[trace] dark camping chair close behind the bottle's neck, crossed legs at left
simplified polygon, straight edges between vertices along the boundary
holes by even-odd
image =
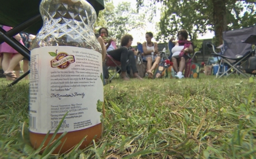
[[[43,26],[43,19],[39,12],[39,5],[41,0],[34,1],[16,1],[0,0],[0,25],[11,26],[12,30],[5,31],[0,28],[0,43],[6,42],[12,46],[18,53],[22,54],[26,59],[30,61],[30,51],[25,46],[21,45],[15,38],[14,35],[24,31],[25,33],[36,35],[37,32]],[[104,1],[97,0],[88,2],[94,6],[96,11],[104,9]],[[28,9],[29,8],[29,9]],[[9,86],[16,84],[22,78],[26,77],[29,71],[21,75],[15,81],[13,81]]]

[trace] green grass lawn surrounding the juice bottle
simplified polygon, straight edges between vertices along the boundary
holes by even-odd
[[[28,81],[1,80],[0,158],[255,158],[255,79],[113,80],[100,141],[41,156],[28,140]],[[50,154],[50,152],[49,152]]]

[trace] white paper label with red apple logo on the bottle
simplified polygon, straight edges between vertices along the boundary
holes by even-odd
[[[100,124],[104,100],[102,55],[72,46],[33,49],[30,57],[29,130],[59,133]]]

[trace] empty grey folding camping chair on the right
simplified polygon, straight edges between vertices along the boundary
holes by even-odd
[[[239,74],[242,74],[244,77],[249,77],[244,71],[241,69],[241,65],[246,62],[246,59],[253,55],[254,51],[252,51],[250,43],[244,43],[245,39],[247,39],[251,34],[256,33],[256,26],[246,27],[238,30],[230,30],[223,32],[223,46],[221,46],[221,53],[217,53],[214,45],[212,43],[207,43],[208,47],[213,49],[213,54],[216,57],[220,57],[221,61],[219,63],[219,69],[216,74],[216,78],[222,77],[223,75],[227,75],[227,77],[235,71],[228,73],[231,69],[236,70]],[[230,66],[227,70],[225,69],[227,64]],[[220,70],[222,66],[223,70]],[[222,72],[220,74],[220,72]]]

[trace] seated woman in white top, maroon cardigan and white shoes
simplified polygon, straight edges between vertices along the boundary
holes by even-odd
[[[173,42],[174,38],[170,41]],[[182,72],[185,69],[186,62],[189,61],[189,53],[193,52],[192,42],[188,41],[188,32],[184,29],[178,32],[178,42],[175,43],[173,49],[171,61],[173,62],[173,69],[177,73],[175,78],[184,78]]]

